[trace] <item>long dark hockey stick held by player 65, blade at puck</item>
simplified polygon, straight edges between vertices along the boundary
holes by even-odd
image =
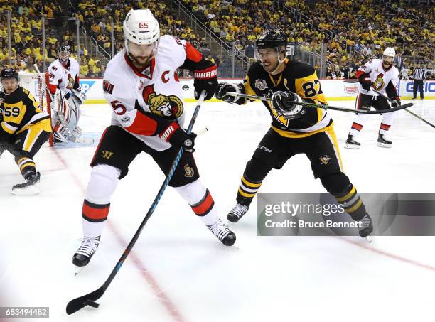
[[[192,119],[190,119],[190,123],[187,129],[187,133],[192,132],[193,124],[195,124],[196,117],[198,117],[198,112],[200,110],[201,104],[203,104],[205,97],[205,91],[201,92],[201,95],[198,100],[198,104],[196,104],[195,111],[193,112]],[[107,290],[107,287],[109,287],[110,283],[116,276],[117,272],[119,272],[119,269],[121,269],[122,264],[124,264],[124,260],[127,259],[127,256],[129,256],[129,253],[131,252],[131,249],[134,247],[134,244],[136,244],[137,239],[139,238],[139,235],[141,235],[141,231],[144,228],[146,222],[151,217],[152,213],[154,213],[154,210],[156,209],[157,204],[160,201],[161,196],[163,195],[163,192],[166,190],[166,187],[169,184],[169,181],[171,181],[171,178],[173,176],[173,173],[175,172],[178,163],[180,162],[181,156],[183,155],[183,148],[180,148],[178,150],[178,154],[176,156],[176,159],[174,159],[171,170],[168,173],[168,176],[166,176],[165,181],[163,181],[163,184],[161,185],[161,188],[159,190],[159,193],[157,193],[156,198],[154,198],[154,201],[151,205],[151,208],[149,208],[148,213],[146,213],[146,216],[144,220],[141,222],[141,225],[136,230],[136,233],[134,234],[133,238],[131,239],[129,245],[122,253],[121,258],[119,258],[117,264],[115,265],[114,269],[110,273],[109,277],[106,281],[104,281],[104,284],[100,287],[100,289],[97,289],[93,291],[90,294],[86,294],[84,296],[77,297],[77,299],[73,299],[70,301],[66,307],[66,313],[68,315],[73,314],[80,309],[84,308],[85,306],[92,306],[94,308],[98,308],[100,304],[97,304],[95,301],[97,299],[100,299],[100,297],[104,294],[104,292]]]

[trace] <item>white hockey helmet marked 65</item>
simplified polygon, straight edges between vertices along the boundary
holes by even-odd
[[[160,38],[159,22],[149,9],[131,9],[122,24],[124,38],[137,45],[150,45]]]

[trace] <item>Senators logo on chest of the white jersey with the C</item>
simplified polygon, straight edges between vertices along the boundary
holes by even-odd
[[[159,117],[176,119],[183,114],[183,101],[176,95],[157,95],[154,92],[154,85],[144,87],[142,97],[144,97],[144,102],[149,106],[151,113],[159,115]]]

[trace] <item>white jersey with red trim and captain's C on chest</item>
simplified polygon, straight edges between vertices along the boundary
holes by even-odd
[[[107,64],[103,80],[104,97],[113,109],[112,125],[156,151],[170,148],[158,135],[159,124],[177,119],[183,126],[184,103],[176,70],[186,55],[186,41],[169,35],[160,38],[156,56],[145,70],[134,68],[125,48],[117,53]]]

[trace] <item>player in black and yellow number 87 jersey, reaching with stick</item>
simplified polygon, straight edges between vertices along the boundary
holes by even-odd
[[[243,83],[221,83],[216,94],[228,103],[245,104],[242,97],[226,95],[239,92],[272,97],[263,101],[272,117],[269,131],[247,162],[237,193],[237,204],[227,218],[237,222],[247,213],[254,195],[272,168],[282,168],[295,154],[306,154],[315,178],[353,218],[360,220],[360,236],[373,230],[372,220],[357,194],[355,186],[342,171],[340,152],[333,120],[325,109],[304,108],[296,102],[326,104],[316,71],[311,65],[286,58],[286,35],[279,30],[267,31],[256,41],[254,63]]]

